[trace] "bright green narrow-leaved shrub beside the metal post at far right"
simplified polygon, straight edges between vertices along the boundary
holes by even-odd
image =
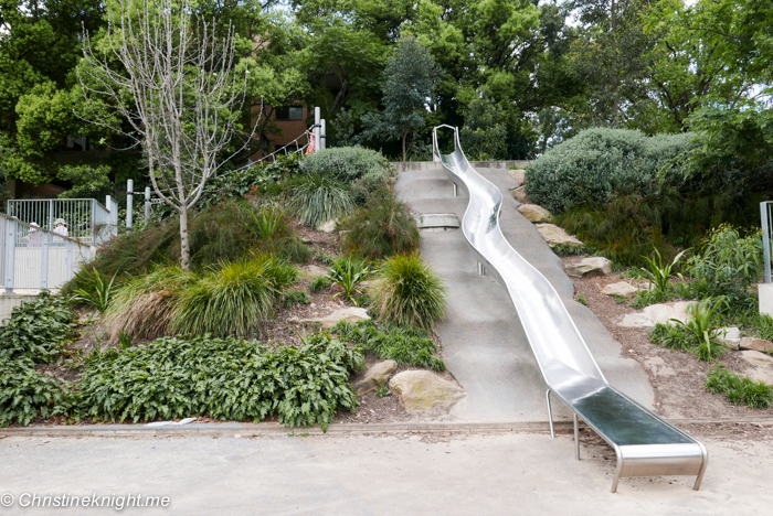
[[[705,282],[712,295],[742,297],[762,273],[760,234],[741,238],[728,225],[718,227],[705,240],[702,251],[687,261],[687,271]]]

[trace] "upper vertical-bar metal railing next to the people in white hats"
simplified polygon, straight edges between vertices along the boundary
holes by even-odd
[[[8,216],[96,247],[118,232],[118,203],[108,195],[106,204],[95,198],[11,200]],[[56,229],[57,221],[64,229]]]

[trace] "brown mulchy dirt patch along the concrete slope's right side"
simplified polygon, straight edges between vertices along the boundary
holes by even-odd
[[[564,266],[583,257],[566,257]],[[667,350],[649,341],[649,331],[640,327],[623,327],[617,323],[627,313],[640,312],[631,307],[631,301],[620,303],[615,298],[602,293],[610,283],[631,281],[620,272],[605,277],[570,278],[574,284],[575,299],[582,295],[587,308],[599,318],[612,336],[623,345],[621,354],[638,362],[649,376],[655,391],[655,411],[670,419],[724,419],[724,418],[773,418],[773,408],[752,409],[730,404],[724,395],[706,391],[706,374],[722,363],[730,370],[746,376],[753,366],[742,361],[739,352],[726,350],[722,356],[709,364],[695,355]],[[674,373],[674,374],[670,374]]]

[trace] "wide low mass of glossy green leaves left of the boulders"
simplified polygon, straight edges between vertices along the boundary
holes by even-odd
[[[363,362],[325,333],[277,350],[234,338],[161,338],[89,355],[76,402],[83,416],[102,420],[276,416],[283,424],[327,429],[335,410],[357,406],[349,377]]]

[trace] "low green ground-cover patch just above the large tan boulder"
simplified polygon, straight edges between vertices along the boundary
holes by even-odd
[[[443,361],[434,356],[437,353],[435,343],[430,338],[430,334],[420,327],[386,323],[380,329],[373,321],[360,321],[357,324],[341,321],[331,331],[351,342],[362,344],[366,351],[373,353],[379,359],[445,370]]]

